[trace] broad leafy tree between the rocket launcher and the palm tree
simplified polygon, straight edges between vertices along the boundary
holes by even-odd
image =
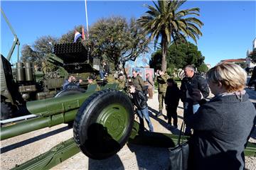
[[[112,62],[115,69],[148,50],[149,39],[134,18],[102,18],[90,28],[90,49],[94,57]]]

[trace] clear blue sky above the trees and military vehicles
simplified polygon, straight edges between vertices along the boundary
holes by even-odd
[[[139,18],[151,1],[87,1],[88,23],[99,18]],[[256,1],[187,1],[183,8],[201,8],[204,26],[198,50],[211,66],[225,59],[245,58],[256,38]],[[1,1],[21,47],[43,35],[60,38],[75,26],[86,26],[85,1]],[[89,30],[90,33],[90,30]],[[7,56],[14,37],[1,16],[1,54]],[[21,49],[21,48],[20,48]],[[16,53],[12,57],[16,62]]]

